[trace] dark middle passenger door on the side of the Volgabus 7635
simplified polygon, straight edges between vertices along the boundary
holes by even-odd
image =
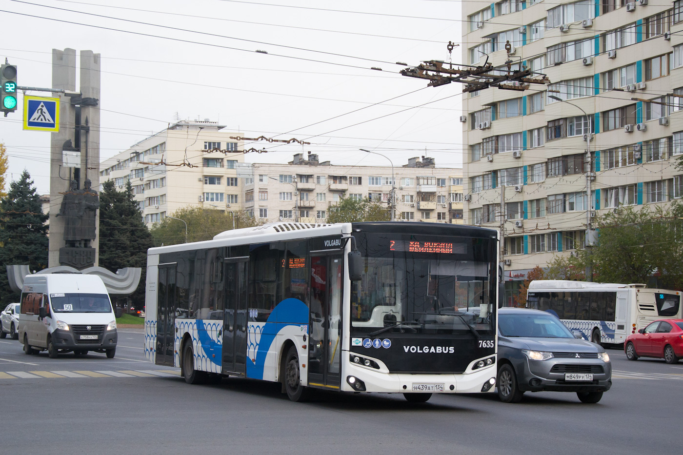
[[[247,260],[225,260],[225,312],[221,373],[247,372]]]

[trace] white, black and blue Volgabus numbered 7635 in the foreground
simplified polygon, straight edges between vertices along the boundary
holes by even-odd
[[[492,391],[494,230],[437,223],[273,223],[148,253],[145,357],[187,383]]]

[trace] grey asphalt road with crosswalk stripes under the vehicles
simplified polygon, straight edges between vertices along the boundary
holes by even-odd
[[[114,359],[27,356],[0,340],[2,454],[676,454],[683,362],[626,360],[609,350],[613,387],[576,394],[402,396],[321,392],[290,402],[278,385],[228,378],[187,385],[143,359],[121,329]],[[25,377],[18,377],[25,376]],[[50,377],[45,377],[50,376]]]

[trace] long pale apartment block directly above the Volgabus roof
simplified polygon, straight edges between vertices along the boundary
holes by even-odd
[[[395,219],[462,223],[462,169],[436,167],[434,158],[410,158],[403,166],[344,166],[317,154],[294,155],[288,164],[254,163],[245,183],[245,209],[263,221],[324,223],[329,206],[343,197],[390,204]],[[393,180],[392,180],[393,176]]]

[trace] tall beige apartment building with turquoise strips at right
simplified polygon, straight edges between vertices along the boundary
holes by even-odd
[[[464,1],[464,63],[550,85],[464,94],[464,218],[501,228],[507,302],[592,220],[683,193],[683,1]],[[505,49],[510,42],[510,53]]]

